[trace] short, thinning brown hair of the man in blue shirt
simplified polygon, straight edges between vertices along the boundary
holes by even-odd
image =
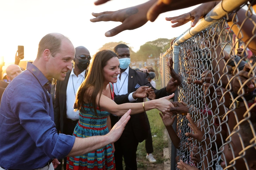
[[[52,56],[54,57],[57,53],[60,52],[60,46],[64,35],[60,34],[57,36],[53,33],[45,35],[39,42],[37,58],[41,57],[45,49],[49,49]],[[68,38],[67,38],[68,39]]]

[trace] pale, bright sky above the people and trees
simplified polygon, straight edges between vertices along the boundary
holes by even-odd
[[[135,30],[126,30],[114,37],[105,37],[108,30],[121,22],[90,22],[91,13],[117,11],[135,6],[147,0],[111,0],[95,6],[94,0],[2,0],[0,1],[0,57],[7,64],[13,62],[18,46],[24,46],[24,60],[34,60],[38,43],[44,35],[61,33],[75,47],[85,46],[94,55],[108,42],[129,43],[136,52],[140,46],[158,38],[177,37],[190,27],[190,23],[172,28],[165,17],[178,16],[196,6],[161,14],[155,22],[148,21]],[[3,70],[5,68],[3,67]]]

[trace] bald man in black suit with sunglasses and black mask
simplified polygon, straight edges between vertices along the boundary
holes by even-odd
[[[78,122],[79,111],[74,111],[76,91],[85,79],[90,60],[91,56],[87,48],[76,47],[74,68],[67,73],[64,81],[56,82],[54,122],[57,131],[62,134],[72,135]],[[64,168],[66,161],[67,159],[64,158]]]

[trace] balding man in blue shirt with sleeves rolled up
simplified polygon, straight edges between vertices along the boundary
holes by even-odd
[[[115,142],[130,111],[105,136],[75,138],[58,134],[54,123],[51,79],[64,80],[75,48],[62,34],[45,35],[36,60],[4,91],[0,107],[0,169],[53,170],[66,156],[79,156]],[[52,162],[52,163],[51,163]]]

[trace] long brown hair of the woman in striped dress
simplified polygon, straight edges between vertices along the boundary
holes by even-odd
[[[102,50],[95,54],[95,56],[92,59],[91,66],[89,68],[89,72],[84,80],[84,82],[81,84],[81,86],[78,89],[77,97],[75,101],[74,108],[76,110],[83,109],[84,102],[84,95],[87,95],[87,101],[92,103],[92,107],[94,109],[94,112],[96,116],[97,110],[96,110],[96,97],[98,93],[100,92],[100,98],[103,91],[103,85],[104,85],[104,76],[103,76],[103,68],[107,65],[107,62],[113,58],[117,57],[116,53],[110,50]],[[92,88],[92,91],[88,91]],[[90,94],[90,96],[88,96]],[[98,106],[100,108],[100,98],[98,100]]]

